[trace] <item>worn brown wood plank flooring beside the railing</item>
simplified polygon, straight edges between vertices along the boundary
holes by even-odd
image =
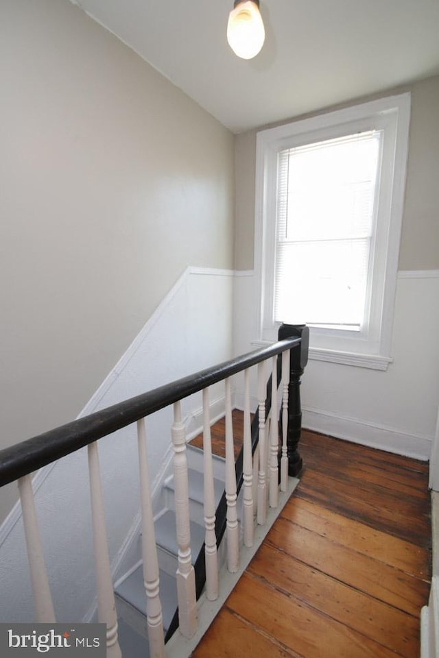
[[[306,430],[300,453],[298,488],[193,658],[418,658],[427,463]]]

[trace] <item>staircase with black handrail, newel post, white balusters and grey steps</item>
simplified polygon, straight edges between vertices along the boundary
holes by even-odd
[[[282,325],[279,341],[272,345],[123,400],[0,451],[0,487],[14,481],[19,485],[36,622],[52,624],[56,620],[51,584],[56,585],[57,579],[51,577],[56,573],[56,565],[50,563],[49,572],[45,566],[32,473],[86,447],[97,618],[107,626],[108,658],[145,657],[149,652],[154,658],[191,655],[298,483],[291,476],[298,474],[301,468],[297,450],[301,426],[299,387],[307,363],[308,336],[306,326]],[[268,380],[265,366],[270,367]],[[231,382],[235,376],[244,377],[244,432],[239,456],[235,452],[232,414]],[[254,393],[257,393],[253,424],[252,376]],[[224,382],[225,460],[213,456],[211,450],[209,390],[219,382]],[[194,446],[187,448],[182,414],[182,400],[197,393],[202,394],[204,452]],[[147,437],[145,419],[167,408],[172,410],[170,433],[175,483],[173,478],[163,483],[162,500],[156,500],[158,508],[155,507],[161,512],[154,517],[147,459],[147,443],[154,439]],[[274,422],[273,410],[276,410]],[[142,547],[132,559],[130,570],[113,587],[98,443],[134,424],[139,474],[133,477],[139,477]],[[162,438],[157,436],[156,440]],[[239,490],[242,500],[237,498]],[[224,531],[226,541],[222,541]],[[201,550],[204,540],[205,552]],[[130,546],[130,550],[135,553],[134,546]],[[196,569],[193,567],[195,560]],[[224,568],[220,570],[223,561]],[[59,598],[60,594],[64,596],[64,591],[56,594]],[[177,625],[178,630],[172,635]],[[172,635],[166,650],[164,635]],[[174,651],[176,646],[179,653]]]

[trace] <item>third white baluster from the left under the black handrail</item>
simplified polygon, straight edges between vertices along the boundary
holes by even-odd
[[[146,617],[151,658],[165,658],[165,637],[160,601],[158,559],[154,516],[150,492],[150,474],[147,466],[145,420],[137,421],[139,443],[140,500],[142,515],[143,583],[146,592]]]

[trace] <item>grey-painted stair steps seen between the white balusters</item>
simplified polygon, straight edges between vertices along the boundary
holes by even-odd
[[[189,510],[191,517],[192,563],[204,544],[203,510],[203,454],[200,448],[187,446]],[[225,460],[213,455],[215,506],[224,492]],[[176,570],[178,546],[176,543],[176,515],[174,503],[174,476],[165,479],[162,487],[164,507],[156,517],[154,531],[160,574],[163,629],[165,636],[177,609]],[[223,542],[224,543],[224,542]],[[139,542],[140,546],[140,542]],[[219,551],[219,556],[222,552]],[[224,552],[223,552],[224,555]],[[132,568],[115,584],[115,598],[119,624],[119,644],[124,656],[147,658],[146,596],[143,584],[143,563],[140,555]]]

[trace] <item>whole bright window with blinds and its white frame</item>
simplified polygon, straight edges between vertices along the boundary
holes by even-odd
[[[311,358],[385,369],[410,95],[257,135],[259,340],[311,329]]]

